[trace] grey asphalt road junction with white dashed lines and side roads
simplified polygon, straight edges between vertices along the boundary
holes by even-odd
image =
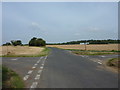
[[[117,88],[118,74],[100,68],[102,63],[93,57],[51,48],[49,56],[4,57],[3,64],[23,77],[27,88]]]

